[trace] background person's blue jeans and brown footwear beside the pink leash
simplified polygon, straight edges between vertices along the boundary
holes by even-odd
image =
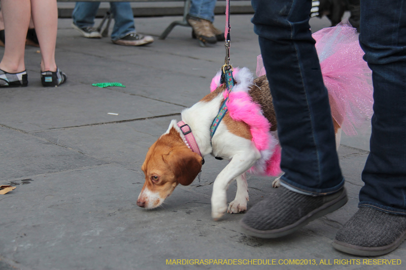
[[[214,9],[217,0],[192,0],[188,22],[192,26],[192,37],[214,44],[217,41],[224,41],[224,32],[213,25]]]

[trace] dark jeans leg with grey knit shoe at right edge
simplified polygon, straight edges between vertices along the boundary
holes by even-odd
[[[406,1],[361,0],[360,45],[372,70],[374,115],[359,210],[333,246],[377,256],[406,239]]]

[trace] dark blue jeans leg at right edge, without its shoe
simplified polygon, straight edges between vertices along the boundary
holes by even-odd
[[[361,0],[360,32],[374,115],[359,206],[406,215],[406,1]]]

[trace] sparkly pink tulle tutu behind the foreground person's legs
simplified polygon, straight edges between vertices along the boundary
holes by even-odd
[[[328,90],[331,115],[347,135],[373,114],[371,70],[362,59],[356,29],[349,23],[315,32],[316,50],[324,85]],[[265,74],[262,56],[257,57],[257,76]]]

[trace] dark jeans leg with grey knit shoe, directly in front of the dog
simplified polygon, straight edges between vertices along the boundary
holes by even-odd
[[[311,0],[252,0],[252,22],[282,146],[281,187],[242,219],[248,235],[280,237],[347,202],[327,89],[309,25]]]

